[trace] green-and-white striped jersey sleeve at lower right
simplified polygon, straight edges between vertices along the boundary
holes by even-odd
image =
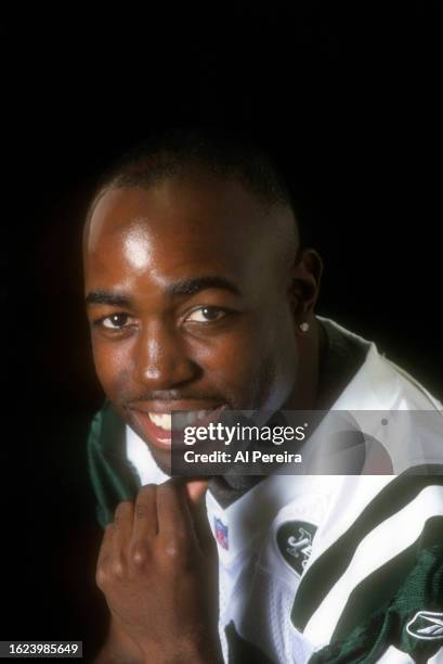
[[[443,475],[388,485],[302,579],[292,624],[324,630],[309,664],[442,663]]]

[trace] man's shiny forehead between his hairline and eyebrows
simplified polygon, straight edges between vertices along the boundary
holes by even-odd
[[[87,281],[117,283],[146,272],[158,281],[197,272],[260,281],[278,235],[270,214],[242,183],[205,175],[108,190],[84,238]]]

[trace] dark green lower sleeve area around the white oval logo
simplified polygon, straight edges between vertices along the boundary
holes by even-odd
[[[399,570],[403,583],[388,601]],[[369,613],[368,613],[369,612]],[[390,646],[416,662],[427,662],[443,647],[443,516],[429,519],[412,547],[368,576],[351,593],[329,646],[309,664],[376,664]]]

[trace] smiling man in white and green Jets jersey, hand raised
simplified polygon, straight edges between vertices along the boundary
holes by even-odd
[[[168,478],[174,410],[441,417],[315,316],[322,261],[272,163],[192,133],[147,143],[104,178],[83,250],[107,397],[89,439],[112,615],[97,662],[437,662],[441,476]]]

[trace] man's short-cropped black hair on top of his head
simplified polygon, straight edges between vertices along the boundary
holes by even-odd
[[[147,188],[185,174],[190,166],[221,178],[237,178],[266,206],[282,204],[295,210],[282,170],[257,141],[232,130],[173,128],[152,135],[110,165],[97,182],[88,218],[104,191]]]

